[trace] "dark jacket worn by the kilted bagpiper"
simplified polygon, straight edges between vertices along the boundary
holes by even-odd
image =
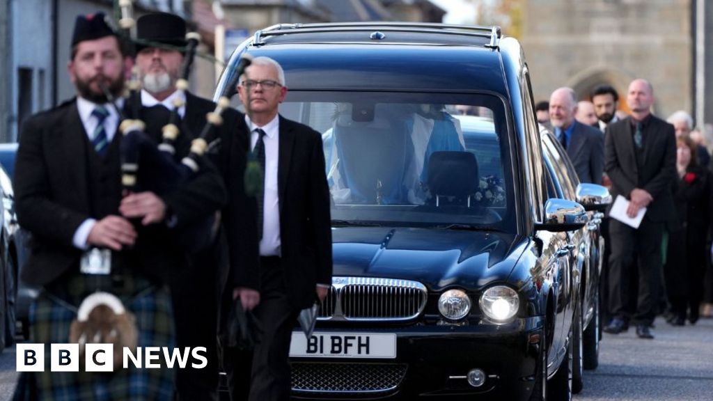
[[[46,285],[77,268],[81,250],[72,243],[74,233],[87,218],[104,217],[91,215],[85,137],[74,100],[32,116],[21,131],[15,207],[20,225],[33,235],[31,255],[22,274],[30,285]],[[195,200],[196,194],[202,194],[202,200]],[[220,208],[225,188],[215,171],[204,171],[163,200],[179,222],[190,223],[205,218],[210,213],[207,210]],[[130,252],[140,266],[133,268],[168,280],[187,265],[188,255],[175,249],[173,231],[164,224],[138,230],[137,243]]]

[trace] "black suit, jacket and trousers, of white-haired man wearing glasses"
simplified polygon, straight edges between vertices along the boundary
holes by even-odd
[[[245,152],[250,143],[247,125],[241,124],[238,131],[241,143],[234,148]],[[289,399],[287,360],[297,313],[314,303],[317,283],[332,283],[329,187],[324,173],[322,136],[308,126],[280,116],[278,148],[281,257],[257,258],[257,235],[242,245],[242,251],[235,248],[240,243],[230,240],[230,247],[235,248],[230,253],[233,285],[260,290],[260,305],[255,314],[262,333],[255,347],[250,393],[251,400],[260,401]],[[231,195],[242,191],[241,178],[228,182]],[[244,202],[245,198],[238,196],[237,200]],[[247,200],[247,205],[247,210],[257,210],[255,199]],[[250,226],[249,232],[257,233],[253,224],[262,222],[257,222],[255,214],[250,219],[245,213],[232,208],[230,218],[225,221],[229,238],[239,235],[245,224]],[[240,255],[240,252],[247,253]]]

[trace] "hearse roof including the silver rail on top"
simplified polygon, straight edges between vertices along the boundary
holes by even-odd
[[[242,50],[277,60],[293,91],[488,91],[508,97],[499,37],[497,27],[304,24],[259,31]]]

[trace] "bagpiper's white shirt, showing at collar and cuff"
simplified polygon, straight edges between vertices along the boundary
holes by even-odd
[[[94,139],[94,131],[99,123],[98,119],[91,115],[97,106],[104,106],[109,112],[109,115],[104,119],[104,132],[106,132],[106,140],[111,143],[114,138],[114,134],[116,134],[116,128],[119,126],[119,114],[117,113],[116,108],[110,103],[93,103],[88,101],[86,98],[77,96],[77,111],[79,112],[79,119],[82,121],[84,131],[86,132],[89,141]],[[123,107],[123,99],[118,99],[116,107]],[[79,228],[77,228],[72,237],[72,243],[74,246],[79,249],[88,248],[87,238],[89,237],[91,229],[94,228],[94,224],[96,224],[96,220],[88,218],[79,225]]]

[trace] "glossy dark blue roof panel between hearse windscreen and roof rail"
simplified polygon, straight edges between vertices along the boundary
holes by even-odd
[[[473,46],[276,44],[249,51],[277,60],[291,90],[506,93],[500,53]]]

